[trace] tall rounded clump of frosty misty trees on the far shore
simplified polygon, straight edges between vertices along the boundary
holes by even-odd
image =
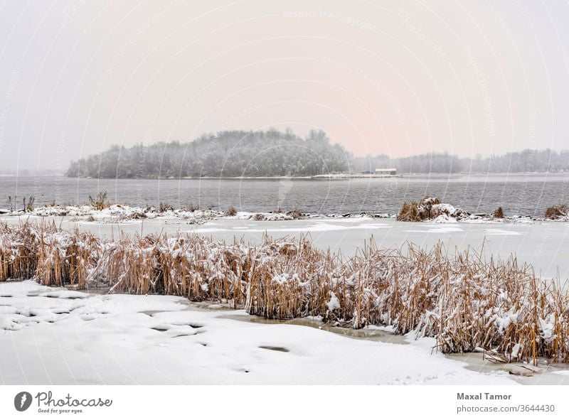
[[[349,171],[352,159],[324,131],[306,139],[287,129],[220,131],[195,141],[112,146],[70,164],[67,176],[179,178],[200,176],[313,176]]]

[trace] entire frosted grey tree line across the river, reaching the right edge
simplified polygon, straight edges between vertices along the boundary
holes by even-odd
[[[354,157],[321,130],[302,138],[287,129],[220,131],[194,141],[111,146],[70,163],[69,177],[198,178],[315,176],[397,168],[398,173],[501,173],[569,171],[569,151],[526,149],[500,156],[460,158],[432,153],[405,158]]]

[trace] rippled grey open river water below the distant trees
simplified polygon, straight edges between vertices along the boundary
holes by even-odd
[[[403,178],[311,179],[76,179],[0,177],[0,208],[8,197],[34,195],[36,206],[84,204],[89,195],[107,191],[112,203],[174,207],[195,205],[244,211],[277,208],[303,212],[390,212],[403,201],[437,196],[469,212],[491,212],[501,205],[506,215],[543,215],[546,207],[569,203],[569,174],[415,175]]]

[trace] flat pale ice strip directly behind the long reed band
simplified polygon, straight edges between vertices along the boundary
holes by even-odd
[[[26,217],[27,219],[27,217]],[[17,217],[3,217],[11,223]],[[119,232],[129,235],[178,232],[206,235],[231,241],[243,238],[246,242],[260,242],[265,232],[273,238],[309,235],[313,244],[321,249],[341,251],[344,256],[356,252],[373,237],[380,248],[400,248],[410,242],[430,248],[444,242],[449,252],[454,249],[479,249],[484,254],[508,258],[516,254],[519,262],[532,264],[536,274],[569,279],[569,222],[397,222],[391,218],[338,217],[282,222],[218,219],[205,225],[188,225],[184,220],[136,220],[121,223],[74,222],[69,217],[29,217],[29,220],[55,220],[65,229],[79,227],[110,239]]]

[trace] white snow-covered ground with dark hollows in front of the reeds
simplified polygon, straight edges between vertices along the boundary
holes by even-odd
[[[1,384],[517,383],[504,371],[467,369],[433,351],[433,340],[392,344],[251,323],[243,311],[174,296],[84,294],[33,281],[1,283],[0,296]]]

